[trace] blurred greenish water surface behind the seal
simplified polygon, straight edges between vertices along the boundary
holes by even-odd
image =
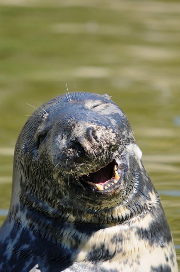
[[[108,93],[129,118],[180,267],[180,2],[0,0],[0,225],[27,115],[66,91]]]

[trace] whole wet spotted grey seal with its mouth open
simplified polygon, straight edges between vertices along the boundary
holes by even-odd
[[[57,96],[14,153],[0,271],[178,271],[160,198],[108,95]]]

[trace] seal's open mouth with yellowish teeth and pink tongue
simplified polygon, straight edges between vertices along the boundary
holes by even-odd
[[[79,181],[85,187],[96,186],[98,190],[111,189],[110,187],[114,186],[120,178],[117,166],[116,160],[113,160],[97,172],[80,176]]]

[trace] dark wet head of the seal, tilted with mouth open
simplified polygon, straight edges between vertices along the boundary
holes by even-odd
[[[23,173],[17,202],[34,207],[40,199],[58,218],[99,223],[82,211],[92,215],[128,197],[123,150],[130,143],[127,117],[109,96],[79,92],[69,101],[52,99],[33,113],[17,140],[15,168]]]

